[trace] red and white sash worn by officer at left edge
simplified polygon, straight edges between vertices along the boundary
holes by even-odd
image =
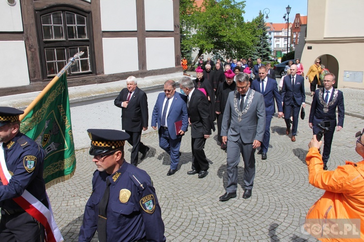
[[[11,179],[11,175],[6,167],[4,149],[2,142],[0,142],[0,180],[3,185],[7,185]],[[54,221],[53,212],[50,207],[50,200],[47,196],[49,209],[44,206],[37,198],[30,194],[27,190],[20,197],[13,198],[13,200],[28,212],[34,219],[41,223],[46,230],[46,241],[47,242],[61,242],[64,241],[59,228]]]

